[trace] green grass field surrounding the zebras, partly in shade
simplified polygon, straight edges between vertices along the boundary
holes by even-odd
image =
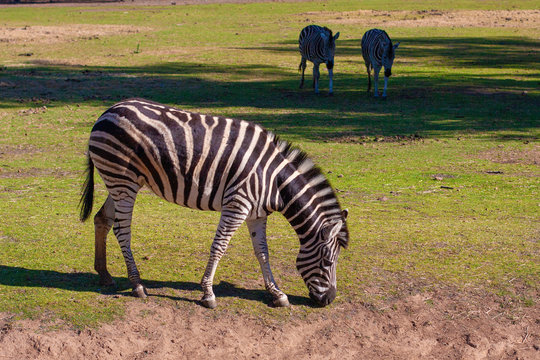
[[[133,28],[48,44],[0,41],[0,311],[88,326],[140,301],[123,296],[130,289],[112,234],[108,263],[118,287],[100,288],[93,226],[79,223],[77,211],[91,126],[108,106],[131,96],[254,121],[306,150],[350,209],[338,303],[391,300],[413,283],[420,291],[453,286],[538,304],[538,27],[386,28],[401,45],[384,102],[365,93],[359,43],[368,28],[330,25],[341,32],[334,97],[325,95],[325,70],[321,95],[298,89],[296,42],[308,16],[535,5],[3,8],[2,29]],[[105,197],[98,181],[96,200]],[[152,299],[196,306],[219,214],[180,208],[145,191],[134,217],[133,251]],[[298,241],[279,214],[269,220],[268,237],[272,269],[296,305],[293,312],[316,311],[295,270]],[[267,306],[270,295],[245,226],[220,263],[215,292],[216,311],[289,314]]]

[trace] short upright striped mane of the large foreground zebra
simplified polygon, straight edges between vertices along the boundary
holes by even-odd
[[[334,189],[330,185],[330,182],[328,181],[326,176],[324,176],[324,174],[322,173],[321,168],[315,165],[315,163],[308,157],[308,154],[305,151],[300,150],[298,147],[294,146],[290,142],[286,140],[281,140],[277,135],[274,135],[274,144],[281,152],[283,157],[288,159],[291,164],[304,176],[306,180],[309,181],[316,177],[320,177],[321,179],[323,179],[320,182],[320,185],[328,188],[332,192],[336,199],[335,206],[338,208],[339,214],[341,214],[341,207],[339,205],[339,201],[337,199],[336,193],[334,192]],[[343,248],[347,248],[348,240],[349,231],[347,230],[347,225],[344,223],[338,235],[339,245]]]

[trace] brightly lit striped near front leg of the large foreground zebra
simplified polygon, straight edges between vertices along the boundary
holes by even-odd
[[[231,237],[236,229],[242,225],[246,217],[247,212],[239,213],[238,208],[235,208],[234,210],[224,209],[221,212],[221,218],[219,220],[216,236],[214,237],[212,247],[210,248],[210,258],[208,259],[208,264],[206,265],[206,270],[204,271],[204,275],[201,280],[201,287],[203,290],[201,304],[204,307],[213,309],[217,306],[216,296],[214,295],[214,291],[212,289],[214,275],[216,274],[219,260],[223,254],[225,254],[225,251],[229,246]]]

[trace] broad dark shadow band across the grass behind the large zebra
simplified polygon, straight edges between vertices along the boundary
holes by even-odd
[[[300,75],[296,68],[182,62],[141,67],[67,66],[30,59],[29,66],[24,68],[0,68],[0,108],[86,103],[103,106],[105,110],[122,99],[143,97],[186,110],[212,108],[216,112],[213,115],[243,118],[281,135],[316,141],[350,136],[442,137],[457,132],[529,132],[540,125],[540,99],[531,93],[538,90],[540,73],[515,77],[514,71],[538,70],[540,42],[523,38],[395,40],[402,41],[402,45],[386,101],[366,93],[367,75],[358,38],[338,40],[333,97],[326,94],[325,69],[321,71],[321,94],[315,95],[310,88],[298,89]],[[261,49],[290,52],[291,56],[298,52],[296,40],[254,48]],[[340,54],[357,56],[357,74],[339,72]],[[421,63],[433,61],[444,66],[504,71],[497,75],[470,71],[445,74],[423,71],[418,66],[413,75],[404,76],[400,74],[400,57]],[[235,80],[221,81],[220,75]],[[217,109],[221,107],[258,108],[261,112],[220,112]],[[269,111],[271,115],[265,114]],[[90,128],[95,120],[84,119],[81,124]]]

